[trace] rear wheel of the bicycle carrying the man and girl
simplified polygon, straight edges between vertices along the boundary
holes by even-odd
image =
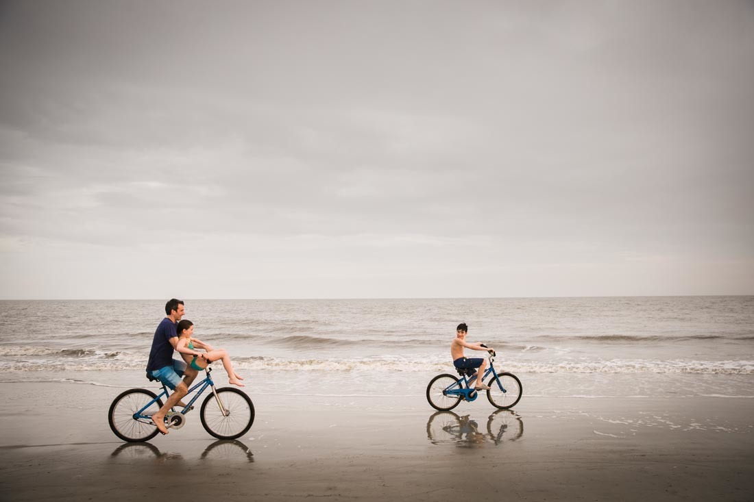
[[[129,389],[113,400],[107,421],[115,436],[124,441],[149,441],[157,436],[157,426],[149,418],[134,418],[134,415],[140,410],[140,415],[152,416],[161,408],[162,401],[151,390]]]

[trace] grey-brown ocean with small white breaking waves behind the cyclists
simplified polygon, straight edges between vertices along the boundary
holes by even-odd
[[[166,298],[167,299],[167,298]],[[154,387],[165,300],[3,301],[5,383]],[[523,396],[754,398],[754,296],[192,300],[195,337],[224,347],[250,394],[415,396],[454,373],[455,327],[495,347]],[[477,357],[482,352],[467,351]],[[177,353],[176,353],[177,357]],[[221,363],[213,377],[227,384]]]

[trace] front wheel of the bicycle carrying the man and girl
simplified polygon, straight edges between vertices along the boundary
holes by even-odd
[[[254,423],[254,405],[245,393],[232,387],[217,389],[201,403],[201,424],[217,439],[236,439],[247,433]],[[225,409],[227,415],[222,410]]]

